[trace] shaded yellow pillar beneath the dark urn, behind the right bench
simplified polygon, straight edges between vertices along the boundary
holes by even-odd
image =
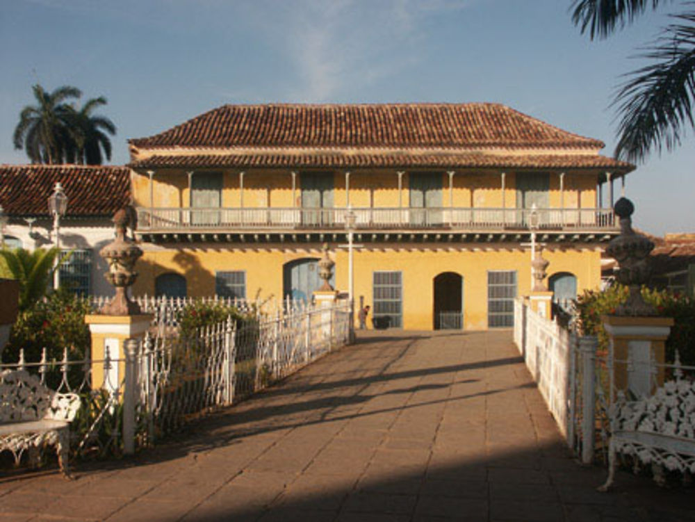
[[[637,397],[651,395],[655,386],[664,383],[664,343],[671,333],[673,319],[601,316],[601,321],[612,346],[616,391],[629,390]],[[651,381],[653,364],[657,365],[654,383]]]

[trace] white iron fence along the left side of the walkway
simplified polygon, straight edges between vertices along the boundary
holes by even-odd
[[[124,357],[0,364],[24,369],[61,392],[79,393],[82,408],[72,423],[72,450],[81,455],[125,452],[150,445],[209,409],[233,404],[289,375],[333,348],[350,342],[352,310],[345,301],[228,318],[194,336],[161,334],[129,339]]]

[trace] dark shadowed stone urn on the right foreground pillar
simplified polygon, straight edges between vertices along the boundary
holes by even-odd
[[[616,308],[615,315],[655,316],[654,307],[644,302],[641,294],[641,286],[647,282],[651,273],[648,256],[654,249],[654,243],[632,230],[630,216],[635,211],[635,206],[630,199],[621,197],[616,202],[614,211],[620,218],[620,236],[609,243],[606,253],[618,261],[616,279],[630,290],[628,300]]]

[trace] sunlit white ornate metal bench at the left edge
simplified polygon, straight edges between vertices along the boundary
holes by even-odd
[[[31,464],[38,463],[44,446],[55,446],[60,471],[70,478],[70,422],[77,414],[76,393],[56,393],[24,370],[0,373],[0,452],[9,450],[15,464],[28,450]]]

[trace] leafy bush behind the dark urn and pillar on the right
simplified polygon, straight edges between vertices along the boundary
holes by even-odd
[[[642,288],[642,296],[653,304],[660,317],[673,318],[671,334],[666,341],[666,361],[673,363],[676,348],[682,364],[695,366],[695,301],[687,295],[667,290]],[[600,316],[615,313],[619,304],[628,298],[628,287],[614,284],[603,292],[584,291],[577,299],[580,328],[584,335],[598,336],[599,350],[607,350],[608,336]]]

